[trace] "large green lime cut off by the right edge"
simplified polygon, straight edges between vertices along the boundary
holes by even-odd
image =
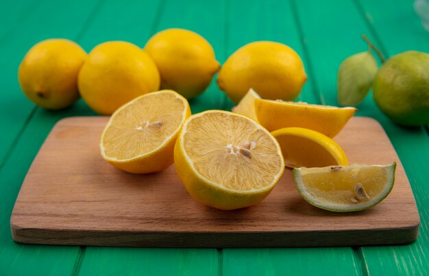
[[[378,108],[399,125],[429,123],[429,54],[406,51],[382,64],[373,84]]]

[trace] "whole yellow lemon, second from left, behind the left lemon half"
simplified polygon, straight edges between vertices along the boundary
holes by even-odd
[[[112,114],[132,99],[159,90],[160,74],[153,60],[129,42],[110,41],[88,55],[78,78],[82,99],[95,112]]]

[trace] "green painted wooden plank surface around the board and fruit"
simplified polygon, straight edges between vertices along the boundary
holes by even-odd
[[[247,42],[284,42],[305,63],[308,81],[300,99],[328,105],[337,105],[341,61],[367,49],[360,34],[367,34],[386,56],[410,49],[429,52],[429,32],[421,27],[412,0],[0,0],[0,275],[429,275],[429,129],[397,127],[371,95],[357,115],[380,121],[404,165],[421,217],[413,244],[136,249],[14,242],[10,214],[43,140],[60,118],[95,115],[82,100],[60,112],[27,101],[17,81],[26,51],[46,38],[69,38],[86,51],[107,40],[143,47],[152,34],[169,27],[204,36],[221,63]],[[191,101],[193,113],[231,107],[215,81]]]

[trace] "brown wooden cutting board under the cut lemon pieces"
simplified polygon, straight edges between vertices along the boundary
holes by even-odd
[[[174,166],[151,175],[105,162],[99,136],[107,117],[65,118],[53,127],[12,212],[17,242],[127,247],[309,247],[412,242],[419,214],[404,168],[378,122],[354,117],[335,140],[350,164],[397,162],[382,203],[352,213],[308,204],[291,170],[258,205],[221,211],[194,201]]]

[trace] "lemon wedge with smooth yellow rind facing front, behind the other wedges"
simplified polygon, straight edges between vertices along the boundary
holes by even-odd
[[[255,99],[258,122],[269,131],[282,127],[305,127],[332,138],[356,111],[356,108]]]

